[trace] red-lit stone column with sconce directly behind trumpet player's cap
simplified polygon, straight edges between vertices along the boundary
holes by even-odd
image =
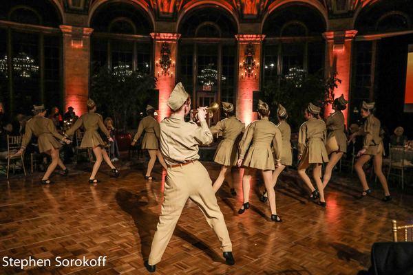
[[[176,85],[176,59],[178,56],[178,39],[180,34],[165,33],[165,32],[153,32],[151,33],[153,38],[153,65],[154,76],[158,78],[156,83],[156,89],[159,90],[159,110],[158,120],[161,121],[164,118],[169,117],[171,110],[167,106],[167,100],[171,94],[173,88]],[[166,43],[169,47],[171,65],[166,70],[166,74],[160,66],[160,58],[162,45]]]

